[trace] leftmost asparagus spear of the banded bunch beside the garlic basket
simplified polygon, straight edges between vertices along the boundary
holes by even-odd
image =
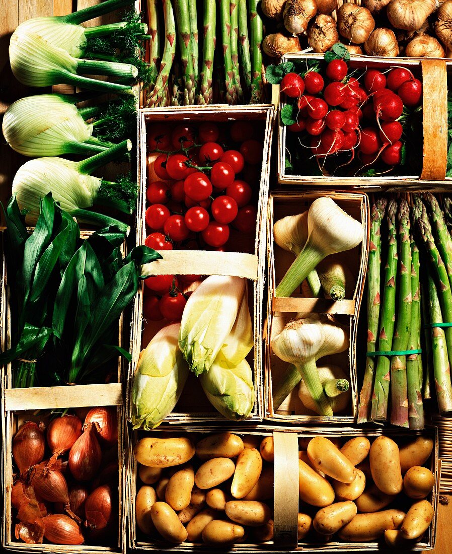
[[[386,211],[386,198],[379,198],[372,206],[369,261],[367,264],[367,351],[375,352],[380,316],[380,266],[381,266],[381,224]],[[373,375],[376,359],[366,358],[366,370],[359,394],[358,423],[369,420],[369,403],[373,389]]]

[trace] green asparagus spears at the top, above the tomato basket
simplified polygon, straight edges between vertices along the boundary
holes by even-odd
[[[263,23],[257,4],[147,0],[151,79],[145,106],[260,104]],[[221,43],[215,49],[217,37]]]

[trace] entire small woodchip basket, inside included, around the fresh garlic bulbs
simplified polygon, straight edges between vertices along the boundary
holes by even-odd
[[[309,209],[309,206],[316,198],[332,198],[338,206],[355,219],[361,221],[364,228],[362,244],[348,252],[332,256],[332,258],[345,261],[348,268],[355,276],[355,290],[350,299],[338,302],[325,299],[312,299],[302,296],[302,293],[294,293],[290,298],[276,298],[276,285],[289,269],[294,255],[285,252],[274,243],[273,225],[276,220],[298,214]],[[264,382],[264,405],[265,417],[270,421],[280,423],[319,422],[350,424],[355,421],[357,414],[357,378],[356,378],[356,332],[358,324],[359,307],[363,295],[364,280],[366,277],[368,235],[369,235],[369,203],[366,194],[361,193],[340,193],[320,191],[304,192],[300,189],[293,191],[275,191],[270,193],[268,216],[267,216],[267,240],[268,240],[268,266],[269,266],[269,293],[267,310],[267,333],[265,346],[265,382]],[[331,362],[341,366],[344,370],[347,367],[350,373],[350,388],[352,390],[352,402],[350,410],[331,418],[325,418],[307,410],[298,398],[298,387],[292,391],[289,397],[281,404],[278,411],[273,408],[272,384],[286,371],[287,362],[283,362],[271,350],[271,340],[278,334],[284,325],[294,319],[298,312],[311,312],[312,314],[341,314],[342,324],[348,326],[350,333],[350,346],[348,352],[326,356],[321,358],[319,363]],[[347,373],[347,371],[345,371]]]

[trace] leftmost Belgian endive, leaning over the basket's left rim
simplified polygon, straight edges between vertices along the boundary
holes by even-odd
[[[132,386],[133,429],[160,425],[181,396],[188,366],[178,346],[180,326],[163,327],[141,352]]]

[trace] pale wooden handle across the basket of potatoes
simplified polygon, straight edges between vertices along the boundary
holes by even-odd
[[[274,544],[298,546],[299,463],[297,433],[273,433],[275,450]]]

